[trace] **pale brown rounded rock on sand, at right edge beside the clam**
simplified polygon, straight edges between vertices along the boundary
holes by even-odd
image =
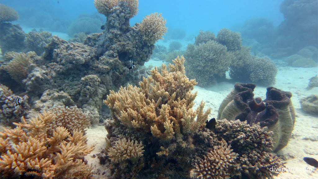
[[[318,115],[318,96],[311,95],[308,97],[301,98],[300,100],[301,109],[309,114]]]

